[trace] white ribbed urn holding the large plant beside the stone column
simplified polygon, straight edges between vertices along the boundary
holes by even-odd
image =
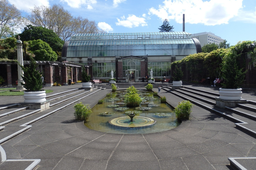
[[[46,93],[45,91],[38,92],[24,92],[24,103],[41,103],[45,102]]]

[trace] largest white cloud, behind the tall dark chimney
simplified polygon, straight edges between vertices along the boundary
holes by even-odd
[[[165,0],[158,9],[150,8],[149,15],[156,15],[161,20],[175,20],[190,24],[220,25],[238,15],[243,0]]]

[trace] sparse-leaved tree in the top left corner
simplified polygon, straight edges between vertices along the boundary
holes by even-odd
[[[15,5],[10,5],[7,0],[0,1],[0,39],[13,35],[21,19],[21,12]]]

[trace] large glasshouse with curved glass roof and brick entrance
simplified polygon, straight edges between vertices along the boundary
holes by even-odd
[[[65,42],[62,59],[91,66],[95,79],[141,82],[153,70],[154,78],[171,75],[170,63],[201,52],[198,39],[187,32],[77,34]]]

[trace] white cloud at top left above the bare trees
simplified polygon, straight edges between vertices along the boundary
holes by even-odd
[[[18,0],[8,0],[10,4],[14,4],[16,8],[18,8],[21,11],[25,11],[27,13],[30,13],[34,6],[50,6],[49,0],[26,0],[26,2],[22,3]]]

